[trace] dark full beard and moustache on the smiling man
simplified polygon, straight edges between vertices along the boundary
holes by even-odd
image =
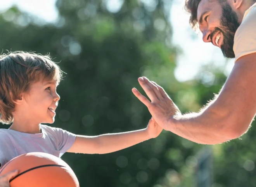
[[[211,41],[213,41],[213,36],[216,32],[222,32],[223,44],[221,45],[221,51],[227,58],[235,58],[235,53],[233,51],[234,37],[239,26],[240,23],[238,22],[237,14],[232,10],[230,5],[226,3],[222,6],[220,27],[216,27],[211,33]]]

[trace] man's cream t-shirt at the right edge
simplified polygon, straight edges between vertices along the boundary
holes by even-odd
[[[241,25],[235,32],[235,61],[247,54],[256,53],[256,3],[244,13]]]

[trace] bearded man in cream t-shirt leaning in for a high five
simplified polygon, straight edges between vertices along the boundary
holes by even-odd
[[[167,131],[201,144],[239,138],[256,114],[256,1],[187,0],[185,7],[203,41],[219,47],[225,57],[235,58],[219,94],[199,112],[181,114],[164,89],[146,77],[138,81],[150,100],[136,88],[132,91]]]

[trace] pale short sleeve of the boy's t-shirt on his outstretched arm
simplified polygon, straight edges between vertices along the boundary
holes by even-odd
[[[74,141],[76,140],[76,135],[61,128],[52,129],[57,139],[58,151],[60,151],[61,155],[63,155],[74,144]]]

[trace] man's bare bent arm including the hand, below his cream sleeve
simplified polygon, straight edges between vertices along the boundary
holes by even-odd
[[[182,115],[166,92],[147,78],[139,83],[151,101],[133,88],[156,122],[165,130],[196,143],[218,144],[249,128],[256,113],[256,53],[239,58],[216,96],[198,113]]]

